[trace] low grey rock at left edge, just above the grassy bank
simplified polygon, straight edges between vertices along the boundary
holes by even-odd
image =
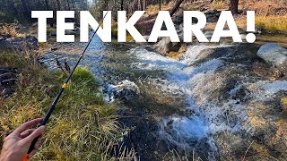
[[[7,38],[0,41],[0,47],[22,50],[22,48],[38,49],[38,39],[32,36],[25,38]]]

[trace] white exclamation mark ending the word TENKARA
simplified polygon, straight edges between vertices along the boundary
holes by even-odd
[[[247,24],[247,31],[248,32],[255,32],[255,11],[248,11],[248,24]],[[248,43],[254,43],[257,37],[254,33],[248,33],[246,36],[246,40]]]

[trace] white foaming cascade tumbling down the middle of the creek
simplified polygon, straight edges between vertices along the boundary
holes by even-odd
[[[210,144],[211,150],[216,151],[217,148],[213,143],[212,133],[219,129],[226,129],[226,127],[211,126],[208,118],[211,114],[208,113],[214,114],[217,111],[203,111],[194,103],[194,97],[196,93],[198,93],[197,90],[201,90],[201,87],[203,87],[201,84],[203,82],[202,80],[208,76],[212,76],[214,71],[224,64],[220,59],[212,59],[204,64],[192,66],[191,64],[196,61],[201,51],[207,48],[213,47],[187,47],[187,52],[183,55],[183,60],[181,61],[149,52],[143,47],[137,47],[131,50],[131,53],[135,54],[140,60],[140,63],[136,64],[139,69],[166,71],[168,78],[164,81],[164,84],[161,84],[161,89],[166,90],[166,92],[170,90],[177,91],[181,93],[181,95],[186,96],[187,100],[189,100],[189,106],[187,106],[187,108],[196,112],[188,117],[172,115],[168,118],[162,118],[160,137],[169,140],[181,148],[196,146],[198,142],[204,138],[208,138],[207,143]],[[204,86],[206,87],[206,84],[204,84]],[[206,95],[208,95],[208,92]],[[202,97],[204,98],[204,96]],[[172,123],[170,125],[171,130],[166,129],[167,126],[169,126],[168,123]],[[216,130],[212,129],[215,127],[217,128]],[[197,143],[191,143],[193,141]]]

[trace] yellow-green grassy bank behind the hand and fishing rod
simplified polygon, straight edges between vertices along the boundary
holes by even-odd
[[[47,112],[65,74],[35,64],[30,55],[0,53],[0,56],[0,68],[17,68],[20,72],[17,91],[0,100],[0,131],[4,136]],[[79,68],[52,114],[42,146],[33,160],[112,159],[110,150],[122,139],[122,133],[117,107],[104,104],[92,73]]]

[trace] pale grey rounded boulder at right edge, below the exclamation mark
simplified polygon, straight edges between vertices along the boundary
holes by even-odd
[[[267,64],[277,67],[287,64],[287,49],[275,44],[265,44],[260,47],[257,55],[265,60]]]

